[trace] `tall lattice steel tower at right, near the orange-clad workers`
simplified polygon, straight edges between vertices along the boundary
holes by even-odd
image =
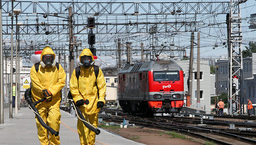
[[[242,35],[240,0],[230,1],[228,23],[228,60],[229,60],[229,114],[240,111],[239,97],[241,97],[242,82]]]

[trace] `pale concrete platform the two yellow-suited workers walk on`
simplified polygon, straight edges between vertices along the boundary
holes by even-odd
[[[15,110],[13,111],[15,112]],[[40,144],[37,137],[35,114],[29,108],[21,108],[17,114],[9,118],[9,108],[4,108],[4,124],[0,124],[0,145],[35,145]],[[61,110],[60,142],[61,144],[80,144],[76,129],[77,118]],[[95,144],[142,144],[114,135],[104,129],[100,129],[96,135]]]

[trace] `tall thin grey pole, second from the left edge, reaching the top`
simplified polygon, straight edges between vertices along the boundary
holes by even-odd
[[[12,118],[12,82],[13,82],[13,52],[14,52],[14,1],[15,0],[10,0],[11,1],[11,65],[10,65],[10,114],[9,118]]]

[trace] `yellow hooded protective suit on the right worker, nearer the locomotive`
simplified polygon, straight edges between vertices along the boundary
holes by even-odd
[[[92,61],[94,61],[91,50],[82,50],[79,59],[81,60],[81,57],[84,55],[92,56]],[[105,104],[104,97],[106,93],[106,82],[103,73],[99,68],[99,75],[97,78],[97,85],[99,89],[98,96],[98,90],[95,84],[96,77],[93,69],[93,67],[89,67],[88,69],[81,67],[79,80],[76,78],[74,70],[70,80],[70,90],[75,102],[81,99],[89,100],[88,105],[82,105],[79,106],[79,108],[84,114],[86,121],[91,123],[94,127],[98,127],[98,113],[100,108],[97,109],[97,103],[101,101]],[[77,127],[81,144],[95,144],[95,133],[85,127],[79,119]]]

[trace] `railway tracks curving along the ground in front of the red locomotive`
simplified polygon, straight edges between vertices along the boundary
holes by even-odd
[[[213,141],[217,144],[234,144],[234,142],[240,144],[249,143],[256,144],[256,131],[254,130],[239,130],[239,129],[227,129],[227,128],[216,128],[209,126],[192,126],[193,124],[200,124],[199,118],[189,118],[189,117],[154,117],[154,118],[140,118],[132,115],[127,115],[121,112],[121,110],[104,110],[106,114],[111,114],[113,116],[101,116],[104,121],[120,123],[124,121],[124,116],[129,120],[129,123],[134,123],[137,126],[156,128],[167,131],[177,131],[178,133],[186,134],[189,136],[194,136],[196,138],[201,138],[204,140]],[[117,114],[116,114],[117,113]],[[118,115],[118,116],[116,116]],[[182,121],[183,120],[183,121]],[[254,123],[248,122],[223,122],[223,121],[213,121],[204,120],[206,124],[236,124],[242,127],[256,127]],[[190,125],[188,125],[190,124]],[[222,139],[226,137],[225,139]],[[249,138],[248,138],[249,137]],[[222,140],[221,140],[222,139]],[[233,143],[230,141],[233,140]]]

